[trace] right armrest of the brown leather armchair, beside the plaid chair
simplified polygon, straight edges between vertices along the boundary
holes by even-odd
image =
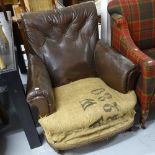
[[[133,64],[102,41],[95,49],[96,72],[111,88],[127,93],[134,89],[139,75],[138,65]]]

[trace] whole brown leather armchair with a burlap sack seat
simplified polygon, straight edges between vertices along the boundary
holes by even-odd
[[[134,122],[137,66],[98,39],[93,2],[25,13],[27,102],[59,150],[111,137]]]

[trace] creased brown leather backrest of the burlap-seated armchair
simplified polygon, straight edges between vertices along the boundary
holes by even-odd
[[[32,54],[44,61],[54,86],[95,76],[98,24],[93,2],[26,13],[23,24]]]

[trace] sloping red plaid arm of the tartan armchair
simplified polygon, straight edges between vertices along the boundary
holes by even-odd
[[[152,60],[134,43],[126,19],[120,14],[112,14],[112,46],[136,64]]]

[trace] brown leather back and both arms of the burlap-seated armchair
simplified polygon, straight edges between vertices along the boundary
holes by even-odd
[[[50,95],[52,86],[57,87],[78,79],[96,77],[96,71],[98,76],[118,91],[127,92],[133,89],[133,84],[130,85],[130,82],[135,79],[132,80],[130,77],[135,77],[136,66],[118,53],[114,55],[104,45],[100,46],[100,42],[97,44],[99,41],[97,12],[93,2],[81,3],[61,10],[26,13],[22,18],[30,49],[28,53],[30,54],[28,74],[30,84],[27,88],[27,100],[30,104],[38,107],[41,103],[47,107],[50,103],[52,108],[49,111],[53,112],[55,106],[53,95]],[[97,70],[94,61],[95,47]],[[109,53],[109,56],[100,52]],[[110,57],[111,54],[112,58],[117,58],[114,62]],[[101,71],[102,60],[105,62],[104,71]],[[112,73],[114,71],[112,68],[118,72]],[[114,78],[117,73],[118,79]],[[110,78],[111,75],[113,78]],[[36,88],[40,91],[36,92]],[[42,103],[43,100],[38,102],[37,96],[47,97],[46,101],[44,98],[45,104]],[[44,110],[42,115],[47,115],[45,111],[47,110]]]

